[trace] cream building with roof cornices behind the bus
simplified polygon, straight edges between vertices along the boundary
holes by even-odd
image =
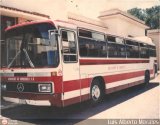
[[[65,4],[65,3],[64,3]],[[32,12],[26,10],[19,9],[18,7],[10,7],[9,5],[2,5],[0,6],[1,9],[1,52],[3,52],[4,46],[4,29],[8,26],[12,26],[18,23],[23,23],[26,21],[32,20],[46,20],[49,18],[54,17],[54,19],[58,19],[61,17],[57,17],[57,15],[48,15],[42,14],[40,11]],[[62,5],[62,7],[65,5]],[[66,8],[66,7],[64,7]],[[59,10],[61,11],[61,10]],[[66,10],[67,11],[67,10]],[[128,13],[121,11],[119,9],[111,9],[100,12],[99,17],[97,19],[87,18],[81,15],[77,15],[74,13],[68,12],[63,14],[63,16],[67,16],[63,18],[63,20],[67,20],[69,22],[78,23],[79,26],[89,26],[91,28],[98,28],[101,31],[107,31],[107,33],[120,35],[123,37],[139,37],[145,36],[145,31],[149,27],[145,25],[145,23],[136,17],[129,15]],[[154,31],[154,32],[153,32]],[[157,60],[158,60],[158,67],[160,67],[160,56],[159,56],[159,47],[160,46],[160,32],[159,30],[152,30],[148,31],[148,37],[151,37],[153,42],[157,45]],[[5,63],[3,57],[1,57],[1,66]]]

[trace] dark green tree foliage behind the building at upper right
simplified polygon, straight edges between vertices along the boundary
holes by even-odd
[[[160,6],[147,9],[133,8],[127,12],[144,21],[151,29],[160,29]]]

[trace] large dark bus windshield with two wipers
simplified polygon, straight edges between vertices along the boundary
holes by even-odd
[[[6,67],[55,67],[58,65],[58,38],[49,23],[32,24],[6,33]]]

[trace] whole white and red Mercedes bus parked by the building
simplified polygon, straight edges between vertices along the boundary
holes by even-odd
[[[9,27],[5,44],[3,99],[29,105],[96,103],[104,94],[148,84],[157,65],[152,42],[63,21]]]

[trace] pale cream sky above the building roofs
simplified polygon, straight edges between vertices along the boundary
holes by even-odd
[[[38,2],[37,2],[38,1]],[[160,0],[1,0],[1,4],[63,18],[68,11],[96,18],[101,11],[119,8],[123,11],[160,5]]]

